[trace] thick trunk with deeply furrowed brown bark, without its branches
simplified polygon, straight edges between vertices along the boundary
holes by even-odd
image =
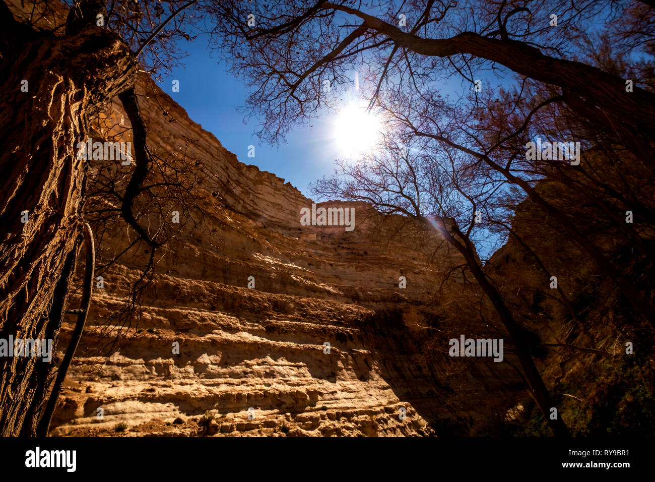
[[[136,64],[115,35],[96,28],[65,37],[26,38],[20,26],[7,33],[16,44],[3,44],[0,66],[0,336],[56,340],[81,233],[86,161],[75,146],[86,119],[133,82]],[[0,435],[33,434],[43,403],[35,395],[54,366],[1,359]]]

